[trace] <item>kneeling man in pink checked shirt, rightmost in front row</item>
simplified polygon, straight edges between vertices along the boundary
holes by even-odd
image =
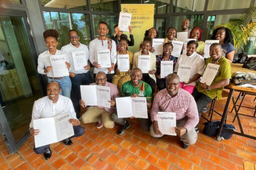
[[[153,102],[151,110],[150,134],[154,137],[162,137],[157,122],[158,111],[175,112],[175,132],[182,140],[183,148],[188,148],[197,139],[195,126],[199,121],[196,102],[193,96],[186,90],[180,88],[180,78],[177,74],[169,74],[166,77],[166,89],[159,91]]]

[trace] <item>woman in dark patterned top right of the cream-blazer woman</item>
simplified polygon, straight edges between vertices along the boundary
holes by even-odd
[[[173,51],[173,44],[171,42],[166,42],[164,44],[164,52],[163,55],[157,56],[157,87],[159,90],[162,90],[165,88],[165,78],[161,78],[161,61],[173,61],[173,68],[176,63],[176,57],[171,55],[171,52]]]

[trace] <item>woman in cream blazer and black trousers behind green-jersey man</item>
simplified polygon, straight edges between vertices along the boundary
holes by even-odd
[[[152,93],[154,93],[156,88],[156,55],[150,52],[150,48],[152,47],[152,41],[151,37],[146,36],[142,43],[143,47],[140,51],[134,53],[134,60],[133,60],[133,68],[138,67],[139,63],[139,56],[140,55],[150,55],[151,61],[150,61],[150,70],[148,73],[143,73],[142,80],[147,82],[152,89]]]

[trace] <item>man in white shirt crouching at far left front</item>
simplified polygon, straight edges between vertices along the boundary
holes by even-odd
[[[40,129],[34,129],[33,120],[38,118],[46,118],[56,116],[65,112],[70,113],[69,122],[72,123],[74,135],[63,140],[64,144],[73,144],[72,137],[81,136],[84,133],[84,128],[80,126],[80,121],[76,118],[75,110],[71,100],[68,97],[59,95],[61,91],[60,84],[57,81],[50,81],[47,85],[47,96],[44,96],[35,101],[32,110],[32,120],[30,123],[30,134],[35,136],[40,133]],[[47,124],[46,124],[47,125]],[[37,154],[44,153],[45,159],[49,159],[52,155],[50,144],[35,147],[34,151]]]

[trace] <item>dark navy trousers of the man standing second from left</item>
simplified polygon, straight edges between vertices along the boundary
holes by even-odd
[[[81,98],[80,85],[88,85],[91,83],[90,71],[86,73],[76,74],[73,78],[70,78],[72,82],[72,96],[71,100],[76,112],[76,117],[80,117],[80,104],[79,100]]]

